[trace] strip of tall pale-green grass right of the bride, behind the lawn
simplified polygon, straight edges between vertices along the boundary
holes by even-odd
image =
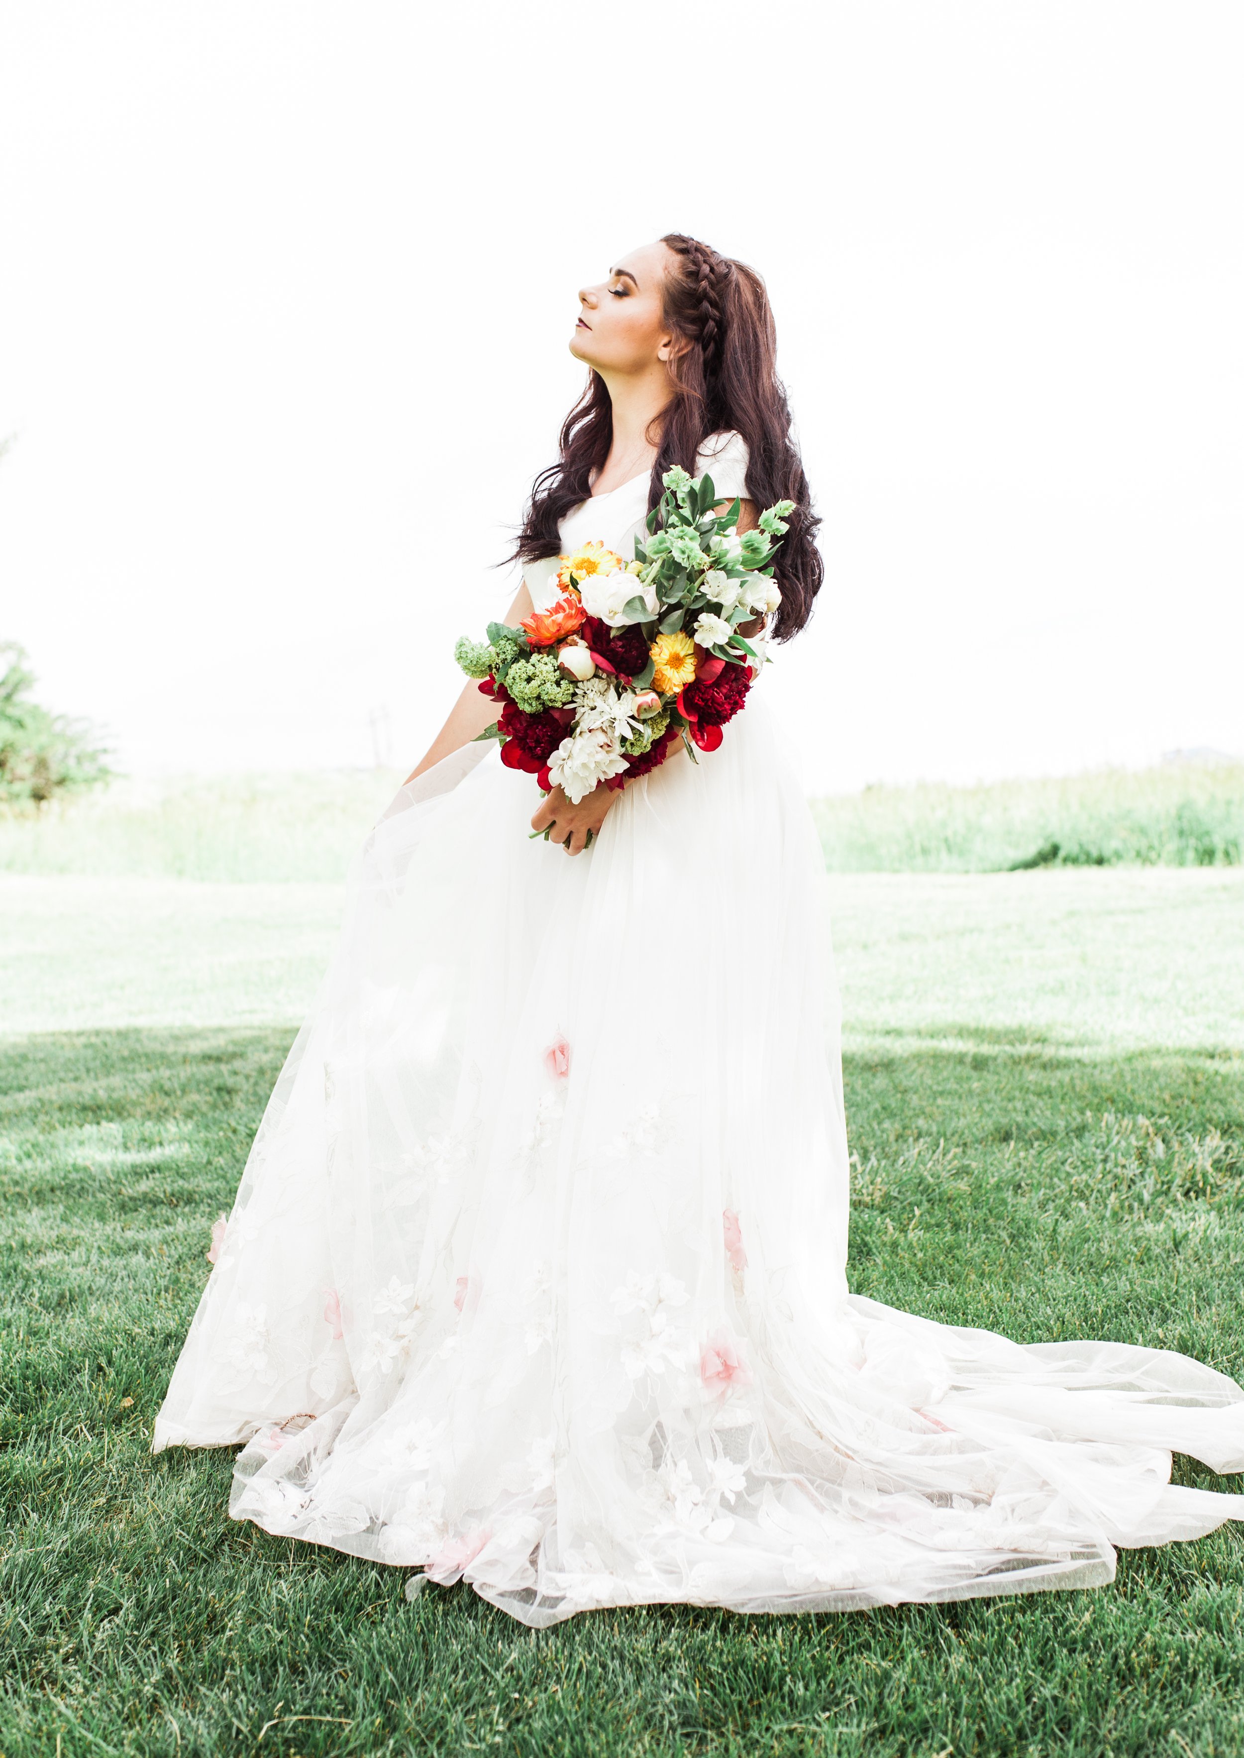
[[[1244,763],[1163,763],[980,788],[864,788],[812,803],[838,872],[1235,867]]]

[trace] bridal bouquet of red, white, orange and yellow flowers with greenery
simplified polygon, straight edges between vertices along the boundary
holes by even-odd
[[[664,763],[678,740],[715,751],[759,672],[740,624],[782,601],[773,556],[792,501],[738,534],[738,501],[713,513],[712,476],[661,478],[647,540],[626,563],[603,543],[561,556],[559,599],[517,629],[488,624],[455,659],[499,705],[481,738],[501,761],[561,786],[578,803]]]

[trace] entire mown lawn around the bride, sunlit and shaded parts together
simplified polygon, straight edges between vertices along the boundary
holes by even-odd
[[[1244,1753],[1244,1526],[1125,1552],[1095,1593],[536,1635],[232,1524],[228,1456],[153,1459],[211,1220],[341,902],[327,863],[279,884],[234,847],[193,883],[151,853],[0,877],[4,1758]],[[1244,868],[847,872],[831,895],[854,1287],[1244,1375]]]

